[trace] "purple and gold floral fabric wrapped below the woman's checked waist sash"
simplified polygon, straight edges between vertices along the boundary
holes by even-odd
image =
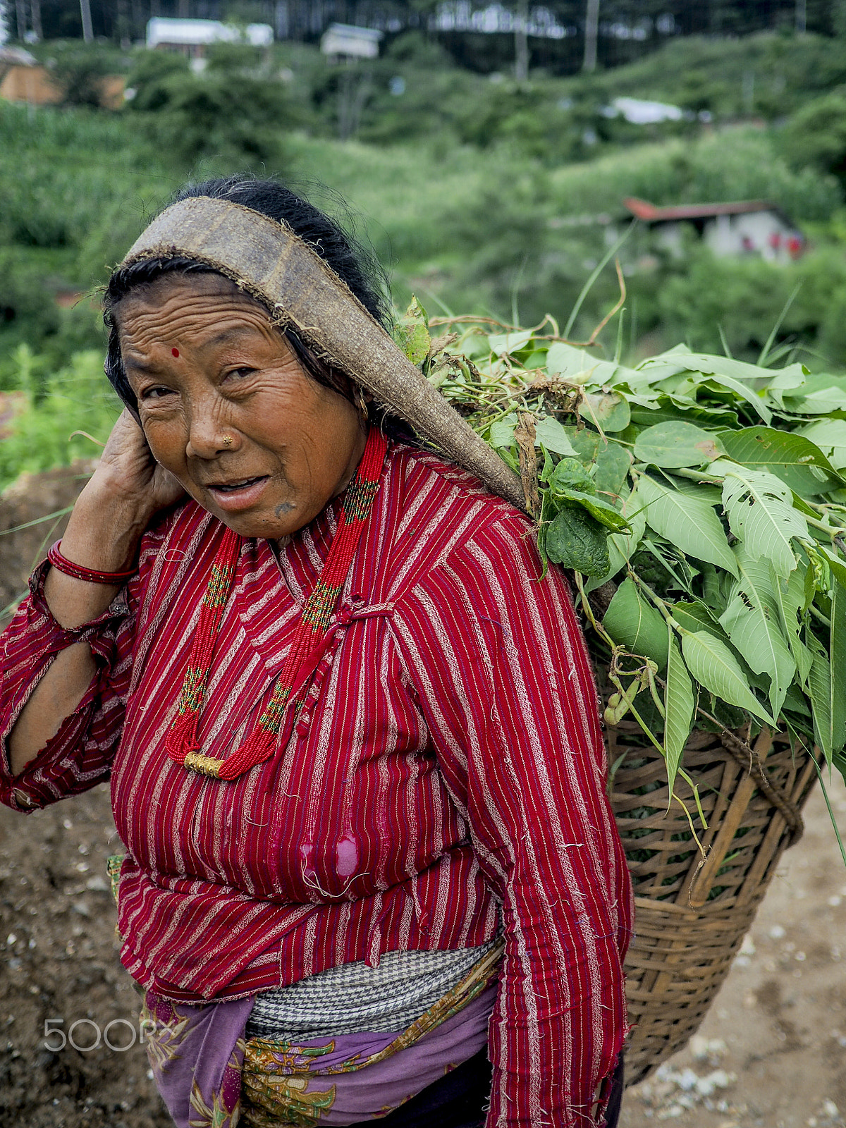
[[[253,998],[144,996],[156,1084],[177,1128],[354,1125],[399,1108],[487,1042],[502,945],[404,1031],[245,1041]]]

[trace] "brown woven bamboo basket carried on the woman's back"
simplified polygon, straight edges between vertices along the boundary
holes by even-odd
[[[607,729],[608,763],[624,757],[609,794],[635,890],[626,958],[626,1082],[643,1081],[696,1032],[748,932],[782,852],[802,834],[817,772],[807,750],[764,729],[752,746],[695,730],[684,765],[698,785],[707,830],[679,776],[634,722]]]

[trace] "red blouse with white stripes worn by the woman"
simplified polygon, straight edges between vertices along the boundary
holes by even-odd
[[[222,757],[272,693],[338,501],[281,550],[245,540],[200,722]],[[0,800],[111,776],[127,856],[121,958],[176,999],[237,997],[352,960],[506,940],[488,1126],[592,1122],[626,1026],[632,923],[589,661],[527,519],[434,455],[391,444],[287,748],[222,782],[165,737],[223,527],[193,502],[142,541],[111,608],[73,631],[32,596],[2,636]],[[6,738],[52,656],[98,675],[25,770]]]

